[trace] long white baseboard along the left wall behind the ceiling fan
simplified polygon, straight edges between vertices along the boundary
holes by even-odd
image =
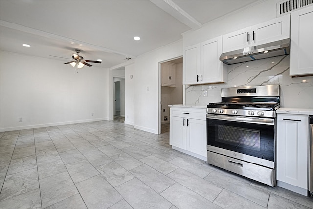
[[[45,124],[38,124],[38,125],[16,126],[16,127],[10,127],[10,128],[0,128],[0,131],[4,132],[4,131],[15,131],[15,130],[23,130],[23,129],[31,129],[31,128],[43,128],[43,127],[49,127],[49,126],[69,125],[69,124],[75,124],[75,123],[87,123],[87,122],[95,122],[95,121],[102,121],[102,120],[110,120],[110,118],[97,118],[97,119],[88,119],[88,120],[58,122],[58,123],[45,123]]]

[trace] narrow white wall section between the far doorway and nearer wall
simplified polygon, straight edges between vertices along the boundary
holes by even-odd
[[[135,122],[134,77],[134,63],[125,66],[125,123],[129,125],[134,125]]]

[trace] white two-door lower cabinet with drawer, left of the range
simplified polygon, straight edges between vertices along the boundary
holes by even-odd
[[[173,149],[206,160],[205,115],[205,109],[171,107],[170,145]]]

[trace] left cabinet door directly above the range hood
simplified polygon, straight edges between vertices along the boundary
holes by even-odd
[[[251,46],[251,27],[228,33],[223,38],[223,53]]]

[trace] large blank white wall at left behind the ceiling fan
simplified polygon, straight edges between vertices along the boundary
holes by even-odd
[[[1,131],[108,119],[108,69],[77,73],[60,60],[0,55]]]

